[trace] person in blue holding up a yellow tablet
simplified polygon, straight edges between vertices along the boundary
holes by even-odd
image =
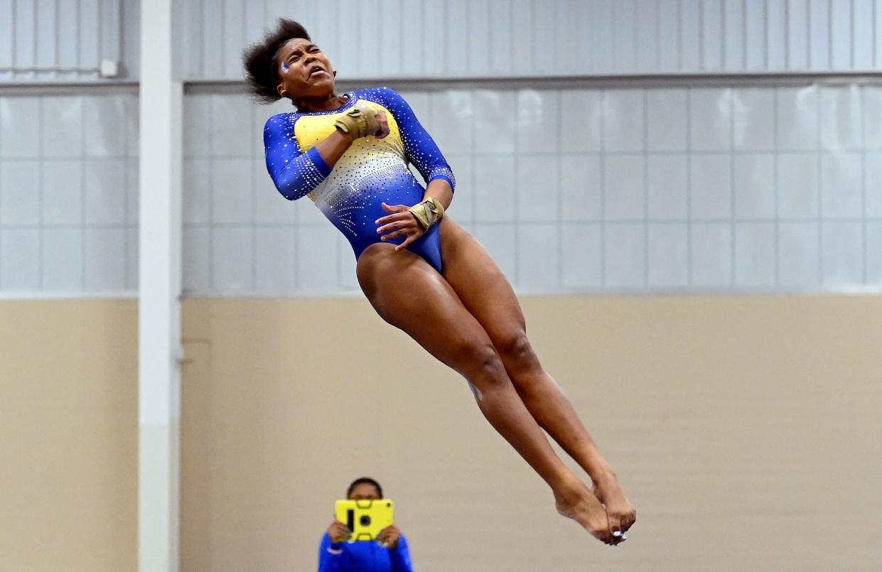
[[[346,498],[377,501],[383,498],[383,487],[369,477],[355,479]],[[351,535],[346,524],[334,519],[318,548],[318,572],[414,572],[407,538],[394,524],[370,542],[347,542]]]

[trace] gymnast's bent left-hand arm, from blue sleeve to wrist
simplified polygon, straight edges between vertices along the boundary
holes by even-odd
[[[335,130],[307,152],[300,151],[288,114],[273,115],[264,127],[266,170],[289,201],[310,194],[352,145],[352,135]]]

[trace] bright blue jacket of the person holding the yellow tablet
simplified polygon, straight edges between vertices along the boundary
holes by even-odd
[[[376,541],[332,543],[325,532],[318,548],[318,572],[414,572],[404,535],[394,549]]]

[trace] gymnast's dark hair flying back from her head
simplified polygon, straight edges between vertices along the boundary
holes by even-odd
[[[310,34],[299,22],[280,18],[274,30],[267,30],[262,41],[245,49],[242,55],[245,81],[248,82],[248,90],[254,99],[260,103],[273,103],[281,99],[276,91],[280,82],[276,56],[279,48],[295,38],[311,40]]]

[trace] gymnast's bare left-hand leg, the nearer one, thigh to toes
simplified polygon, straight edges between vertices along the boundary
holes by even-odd
[[[465,376],[490,424],[551,487],[557,510],[595,538],[617,544],[600,501],[551,449],[506,373],[487,331],[420,256],[373,244],[358,259],[358,281],[383,319]]]

